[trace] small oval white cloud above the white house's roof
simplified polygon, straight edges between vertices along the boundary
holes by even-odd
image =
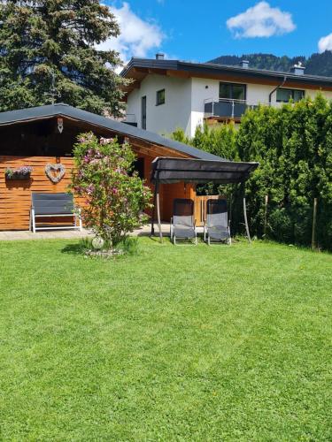
[[[296,28],[290,12],[272,8],[264,1],[231,17],[226,23],[235,38],[271,37],[290,33]]]

